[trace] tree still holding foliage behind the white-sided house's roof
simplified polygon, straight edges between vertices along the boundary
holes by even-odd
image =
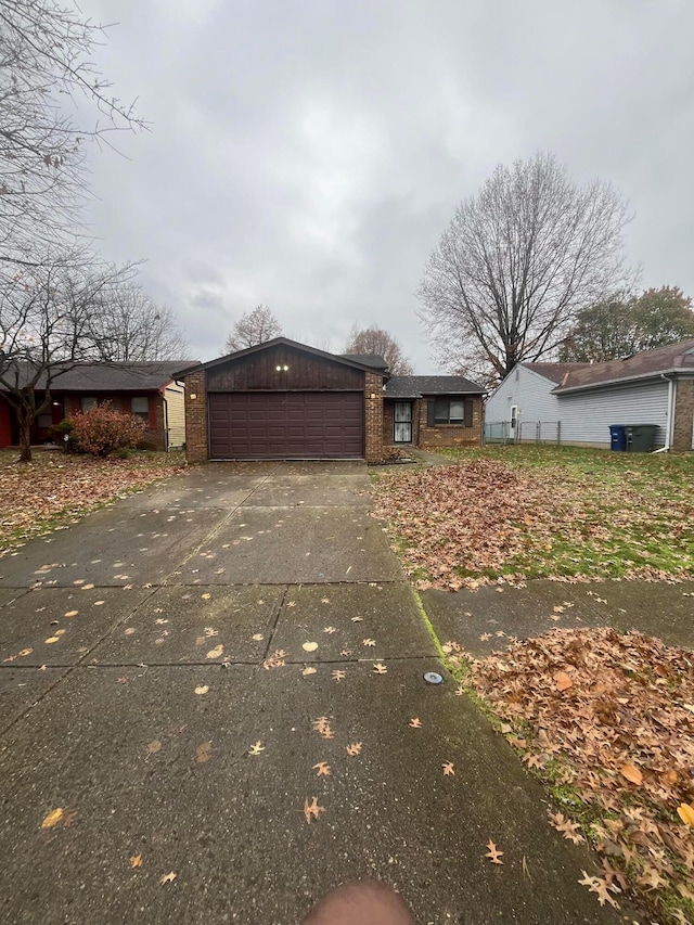
[[[689,338],[694,338],[692,299],[677,286],[661,286],[579,311],[558,356],[561,362],[600,363]]]

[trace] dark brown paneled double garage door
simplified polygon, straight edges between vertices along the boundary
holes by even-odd
[[[363,457],[361,391],[209,394],[213,459]]]

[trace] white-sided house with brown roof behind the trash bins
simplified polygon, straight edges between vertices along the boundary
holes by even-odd
[[[656,447],[692,450],[694,341],[604,363],[518,363],[485,417],[504,422],[510,439],[535,440],[543,422],[558,424],[562,444],[591,447],[609,447],[612,424],[654,424]]]

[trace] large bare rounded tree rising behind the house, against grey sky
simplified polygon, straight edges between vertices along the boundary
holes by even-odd
[[[420,318],[449,368],[505,376],[556,349],[576,312],[624,284],[628,207],[549,154],[499,165],[429,257]]]

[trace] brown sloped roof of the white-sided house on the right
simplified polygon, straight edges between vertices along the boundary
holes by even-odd
[[[592,363],[582,369],[571,370],[552,391],[562,395],[581,388],[594,388],[613,383],[653,378],[661,373],[681,372],[694,374],[694,341],[666,344],[665,347],[633,354],[631,357],[625,357],[624,360],[608,360],[605,363]]]

